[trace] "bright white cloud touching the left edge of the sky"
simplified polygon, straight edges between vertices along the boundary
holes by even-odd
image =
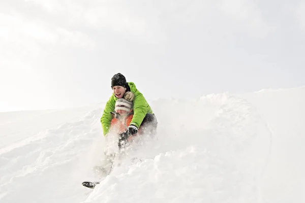
[[[0,54],[16,59],[37,56],[46,45],[92,48],[95,42],[84,33],[53,28],[45,22],[29,20],[21,15],[0,13]]]

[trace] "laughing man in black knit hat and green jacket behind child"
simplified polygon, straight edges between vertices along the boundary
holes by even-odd
[[[107,101],[101,117],[105,137],[110,130],[110,122],[112,120],[111,112],[115,109],[115,101],[123,97],[127,100],[133,100],[134,114],[130,124],[126,128],[126,133],[129,135],[136,134],[143,120],[153,124],[157,128],[157,118],[153,110],[151,110],[143,94],[136,88],[133,82],[126,82],[125,76],[118,73],[111,78],[111,88],[113,93]]]

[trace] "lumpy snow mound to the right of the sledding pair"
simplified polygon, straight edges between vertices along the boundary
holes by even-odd
[[[153,104],[158,141],[138,146],[84,202],[256,202],[270,132],[245,99]],[[159,107],[159,108],[158,108]],[[179,110],[179,111],[177,111]],[[161,115],[161,116],[158,116]]]

